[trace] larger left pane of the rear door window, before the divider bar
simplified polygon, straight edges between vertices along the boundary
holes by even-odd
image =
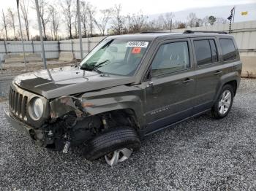
[[[197,66],[211,63],[211,47],[208,40],[195,40],[195,56],[197,58]]]

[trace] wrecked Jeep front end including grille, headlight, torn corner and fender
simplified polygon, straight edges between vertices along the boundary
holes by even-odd
[[[110,93],[105,91],[102,95]],[[96,94],[97,98],[93,98]],[[67,152],[69,146],[86,144],[110,128],[139,127],[134,110],[124,104],[137,103],[138,98],[96,94],[65,95],[48,100],[12,85],[9,110],[5,113],[12,126],[29,133],[35,144],[63,152]],[[37,100],[40,100],[39,109]]]

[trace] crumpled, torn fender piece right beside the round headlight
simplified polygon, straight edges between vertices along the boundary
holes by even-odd
[[[74,111],[78,117],[81,117],[83,111],[79,109],[78,104],[76,104],[73,99],[72,96],[67,95],[50,101],[50,117],[56,119],[72,111]],[[75,100],[80,101],[78,98],[75,98]]]

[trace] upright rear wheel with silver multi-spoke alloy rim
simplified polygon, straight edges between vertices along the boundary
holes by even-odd
[[[222,87],[221,93],[214,106],[211,109],[211,113],[216,119],[226,117],[230,112],[233,104],[234,90],[231,85],[225,85]]]

